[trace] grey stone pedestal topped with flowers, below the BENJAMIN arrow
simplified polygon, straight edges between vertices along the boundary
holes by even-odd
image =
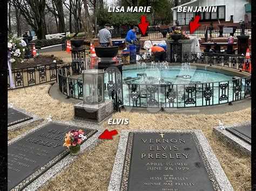
[[[192,43],[193,40],[187,39],[187,40],[166,40],[166,54],[167,54],[167,61],[174,62],[174,56],[173,54],[177,54],[177,62],[180,62],[179,56],[182,56],[183,52],[191,52],[192,50]],[[177,44],[181,44],[181,49],[179,49]],[[174,48],[174,49],[173,49]],[[176,51],[175,51],[176,49]]]

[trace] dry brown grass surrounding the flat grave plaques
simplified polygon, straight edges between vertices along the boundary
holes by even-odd
[[[9,92],[9,102],[17,107],[45,117],[69,121],[73,115],[73,105],[60,103],[48,95],[50,85],[13,90]],[[40,93],[40,94],[39,94]],[[204,132],[221,166],[235,190],[251,190],[251,159],[221,142],[212,133],[218,120],[226,124],[251,120],[251,109],[218,115],[182,114],[142,114],[137,112],[116,113],[112,118],[129,118],[129,125],[107,125],[117,129],[200,129]],[[51,179],[42,190],[106,190],[117,151],[119,135],[113,140],[104,140],[91,151],[84,153],[71,167]]]

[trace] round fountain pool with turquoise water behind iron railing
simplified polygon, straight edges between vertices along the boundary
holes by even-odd
[[[250,95],[250,77],[233,80],[233,76],[220,72],[189,63],[124,66],[122,103],[131,107],[184,108],[229,103]],[[79,81],[82,83],[82,79]],[[112,83],[105,73],[106,99],[110,98],[107,87]],[[76,95],[82,92],[77,84],[74,89]]]

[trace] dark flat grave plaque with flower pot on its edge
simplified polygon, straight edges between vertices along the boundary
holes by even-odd
[[[89,139],[97,130],[48,123],[8,146],[8,190],[21,190],[69,154],[65,133],[82,129]],[[87,140],[85,139],[85,141]]]

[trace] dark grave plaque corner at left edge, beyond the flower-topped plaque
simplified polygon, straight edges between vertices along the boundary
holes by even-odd
[[[8,108],[8,126],[22,123],[32,119],[32,117],[24,114],[21,111],[17,111],[14,108]]]

